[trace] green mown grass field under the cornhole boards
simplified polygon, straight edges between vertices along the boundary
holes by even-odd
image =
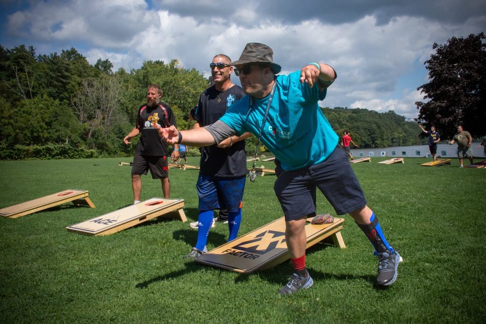
[[[133,203],[131,159],[0,161],[0,208],[65,189],[89,190],[96,208],[66,204],[17,219],[0,217],[2,323],[485,323],[486,170],[422,167],[425,158],[353,164],[388,241],[403,256],[397,281],[375,287],[377,258],[346,215],[346,249],[308,250],[309,290],[285,297],[287,261],[239,274],[186,261],[197,232],[198,171],[171,169],[172,198],[188,222],[163,217],[90,237],[66,226]],[[479,160],[478,160],[479,161]],[[190,158],[190,164],[198,164]],[[273,162],[257,162],[274,168]],[[251,166],[251,162],[248,162]],[[281,217],[275,175],[247,181],[240,235]],[[161,197],[142,178],[142,200]],[[331,212],[318,194],[318,212]],[[226,241],[211,229],[208,248]]]

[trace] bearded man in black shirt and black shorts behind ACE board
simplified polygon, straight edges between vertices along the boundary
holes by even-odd
[[[150,169],[153,179],[160,179],[164,198],[171,194],[169,182],[168,149],[167,144],[158,136],[156,125],[161,127],[175,126],[175,117],[171,107],[160,102],[162,89],[158,85],[149,85],[147,88],[147,103],[139,108],[137,125],[130,134],[123,138],[125,144],[130,144],[130,139],[140,135],[139,144],[133,157],[132,188],[134,204],[140,202],[142,192],[141,174],[147,174]],[[166,125],[166,126],[164,126]],[[174,145],[174,158],[179,158],[179,145]]]

